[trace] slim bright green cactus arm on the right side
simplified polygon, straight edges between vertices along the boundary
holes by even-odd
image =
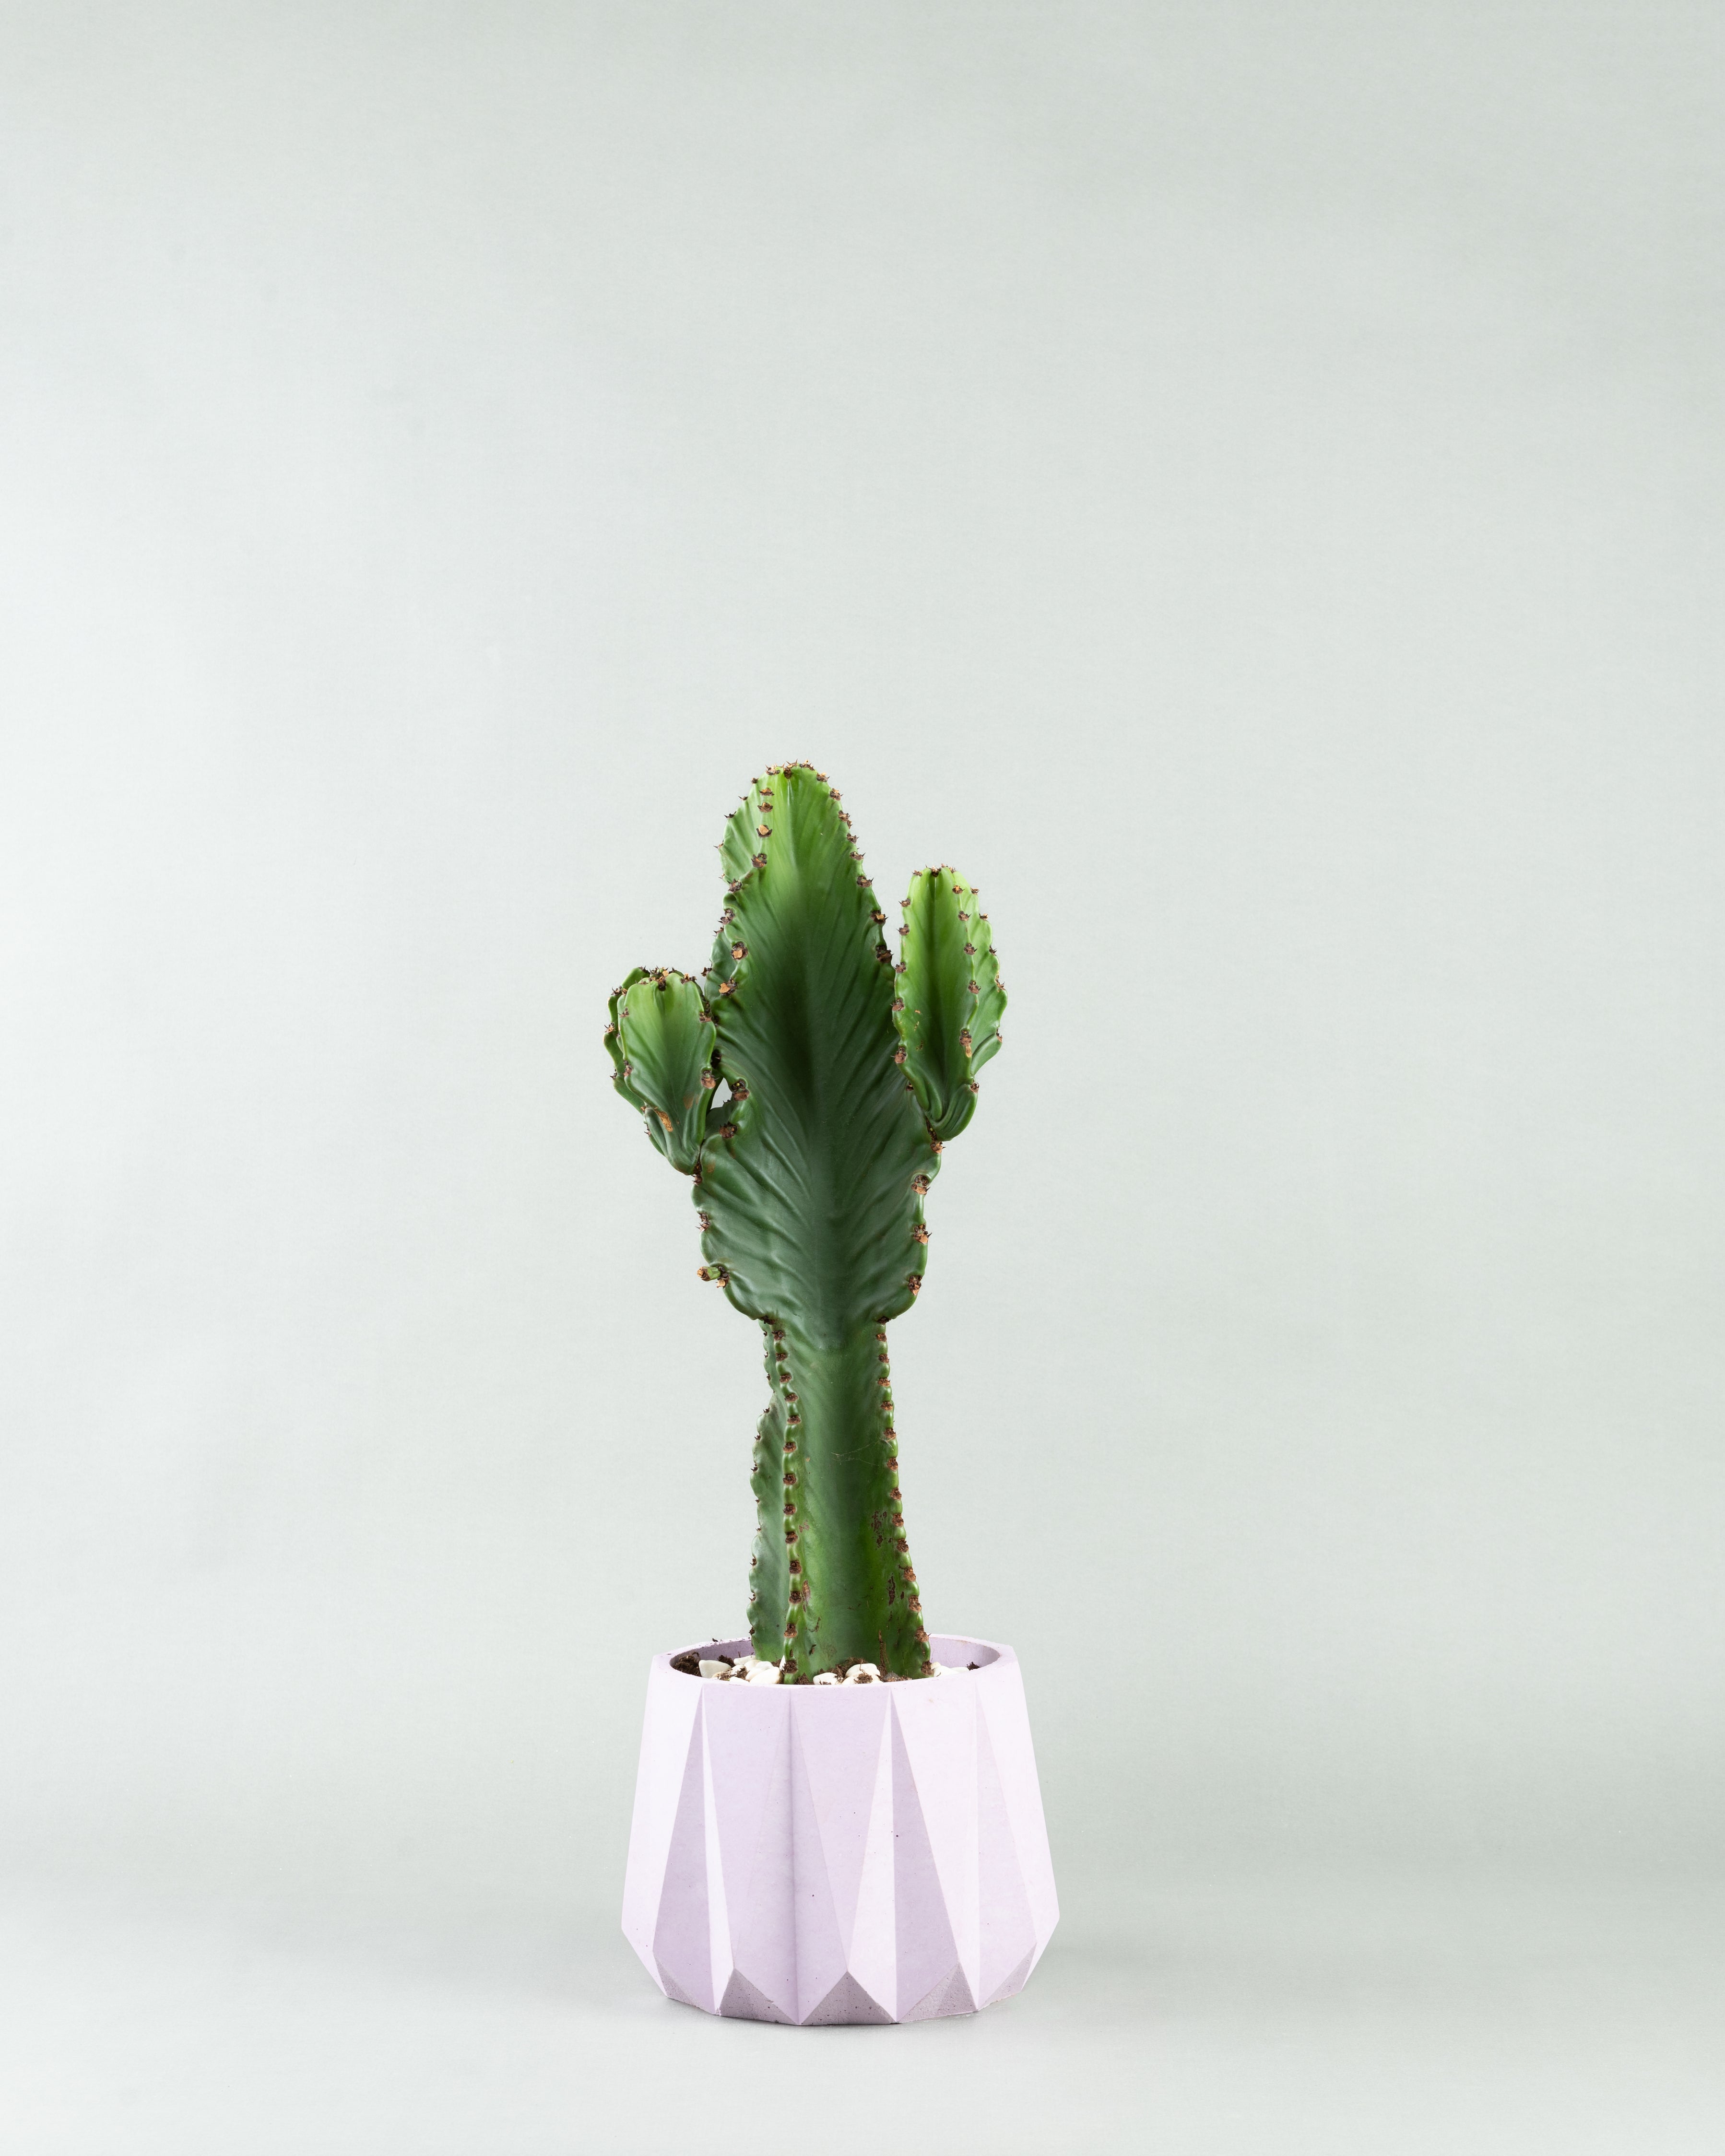
[[[942,1143],[977,1110],[977,1072],[1000,1048],[1005,1007],[975,886],[955,869],[919,869],[903,901],[893,1020],[916,1106]]]

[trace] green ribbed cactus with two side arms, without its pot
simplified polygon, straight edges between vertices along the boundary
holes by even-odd
[[[627,977],[612,1082],[692,1177],[701,1279],[761,1328],[755,1654],[785,1682],[850,1660],[921,1677],[886,1326],[923,1285],[923,1199],[1000,1046],[994,942],[975,888],[923,869],[895,966],[850,813],[806,763],[755,780],[720,856],[712,964]]]

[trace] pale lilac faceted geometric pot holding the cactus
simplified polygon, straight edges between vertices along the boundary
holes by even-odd
[[[932,1647],[981,1667],[714,1684],[653,1656],[623,1932],[666,1999],[826,2024],[975,2014],[1022,1990],[1059,1904],[1018,1658]]]

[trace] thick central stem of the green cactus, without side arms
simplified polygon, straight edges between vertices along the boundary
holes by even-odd
[[[895,1061],[882,914],[837,793],[804,765],[750,787],[722,854],[733,888],[707,990],[731,1100],[696,1201],[703,1270],[768,1326],[770,1419],[783,1395],[778,1490],[757,1436],[757,1503],[778,1518],[761,1514],[755,1576],[776,1533],[794,1675],[847,1656],[921,1675],[884,1326],[921,1285],[936,1156]],[[753,1615],[765,1626],[765,1595]]]

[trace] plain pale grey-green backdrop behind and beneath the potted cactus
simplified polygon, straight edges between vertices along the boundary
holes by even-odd
[[[599,1026],[800,755],[1003,949],[895,1382],[1067,1902],[867,2074],[1719,2145],[1723,60],[0,11],[19,2150],[746,2143],[615,1904],[759,1356]]]

